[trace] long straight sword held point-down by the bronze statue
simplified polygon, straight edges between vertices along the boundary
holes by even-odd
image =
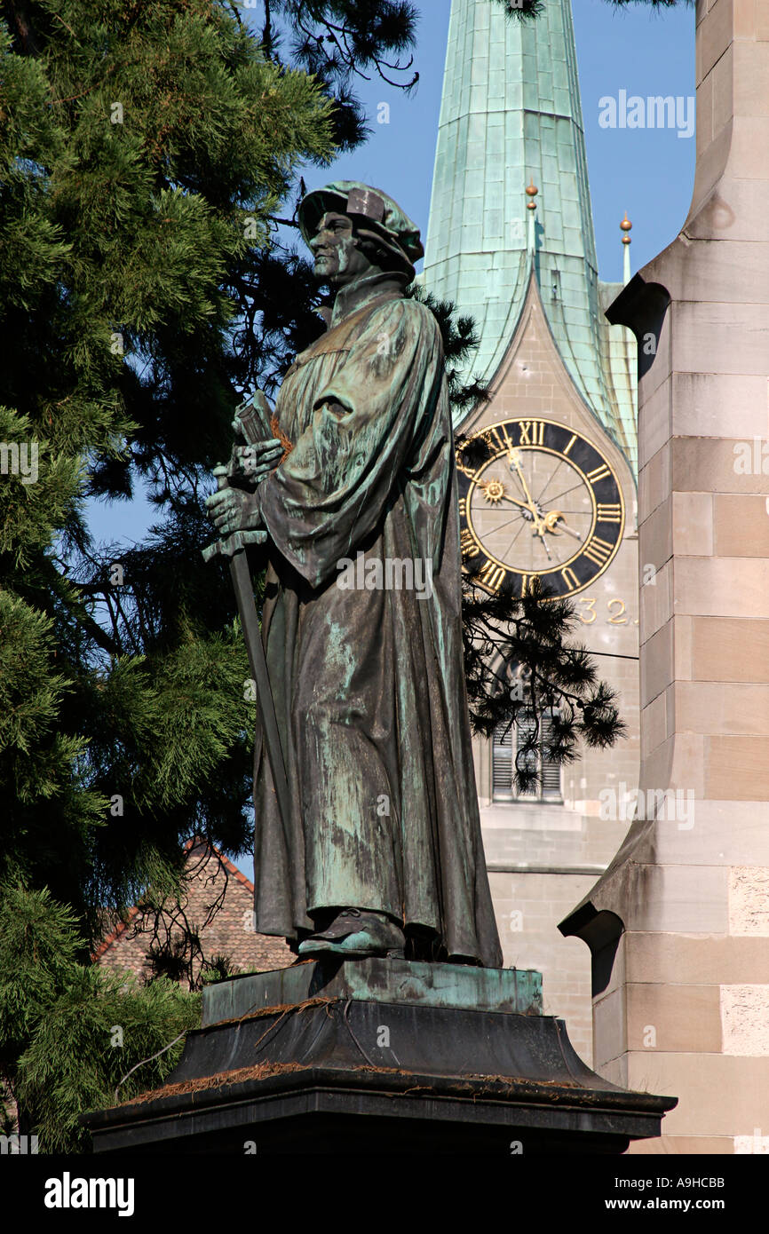
[[[267,400],[260,391],[257,394],[260,396],[262,402],[267,405]],[[257,402],[257,396],[254,396],[254,402]],[[264,408],[260,406],[254,407],[254,402],[251,405],[243,404],[236,412],[236,422],[239,424],[239,431],[248,444],[264,439]],[[258,415],[259,411],[262,411],[262,417]],[[267,436],[273,436],[272,429],[269,429],[269,420]],[[217,469],[216,478],[220,489],[230,487],[230,476],[226,474],[223,468]],[[248,558],[246,555],[246,549],[249,544],[262,544],[264,539],[264,532],[235,532],[226,539],[218,539],[215,540],[214,544],[209,544],[209,547],[202,550],[202,557],[205,561],[211,561],[215,557],[230,558],[230,576],[232,579],[235,598],[241,618],[241,627],[246,640],[248,664],[257,686],[257,700],[259,703],[262,727],[264,732],[264,748],[267,750],[267,758],[273,774],[273,785],[275,787],[275,796],[278,797],[280,819],[288,833],[291,813],[289,782],[285,774],[285,760],[283,756],[283,747],[280,744],[280,731],[278,728],[278,718],[275,716],[275,703],[270,690],[267,660],[264,659],[264,648],[262,647],[262,636],[259,632],[259,619],[257,616],[253,585],[251,581],[251,570],[248,569]]]

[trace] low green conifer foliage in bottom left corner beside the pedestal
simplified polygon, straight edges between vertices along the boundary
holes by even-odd
[[[0,1132],[42,1153],[84,1151],[79,1116],[162,1083],[200,1018],[199,995],[79,964],[81,946],[47,890],[0,885]]]

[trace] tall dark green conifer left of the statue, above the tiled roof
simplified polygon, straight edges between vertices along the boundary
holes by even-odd
[[[207,0],[2,14],[0,864],[89,933],[173,885],[201,821],[248,840],[248,673],[199,485],[237,401],[228,280],[333,153],[333,104]],[[137,480],[165,517],[98,554],[84,496]]]

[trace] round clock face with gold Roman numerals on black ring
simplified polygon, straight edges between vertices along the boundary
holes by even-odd
[[[601,452],[552,420],[504,420],[474,438],[491,454],[474,469],[457,452],[465,566],[480,568],[493,592],[509,580],[523,596],[536,578],[555,596],[588,587],[625,529],[622,490]]]

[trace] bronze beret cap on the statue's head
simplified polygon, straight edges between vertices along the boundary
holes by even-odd
[[[306,243],[330,211],[349,215],[360,234],[375,237],[395,259],[396,268],[414,278],[414,263],[425,255],[420,230],[386,193],[359,180],[335,180],[322,189],[314,189],[301,199],[297,210],[299,227]]]

